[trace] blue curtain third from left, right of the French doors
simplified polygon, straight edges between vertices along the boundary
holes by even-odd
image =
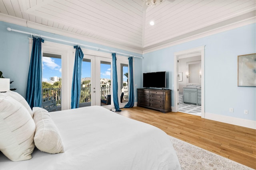
[[[113,100],[116,111],[121,111],[118,104],[118,83],[116,71],[116,53],[112,53],[112,72],[113,72]]]

